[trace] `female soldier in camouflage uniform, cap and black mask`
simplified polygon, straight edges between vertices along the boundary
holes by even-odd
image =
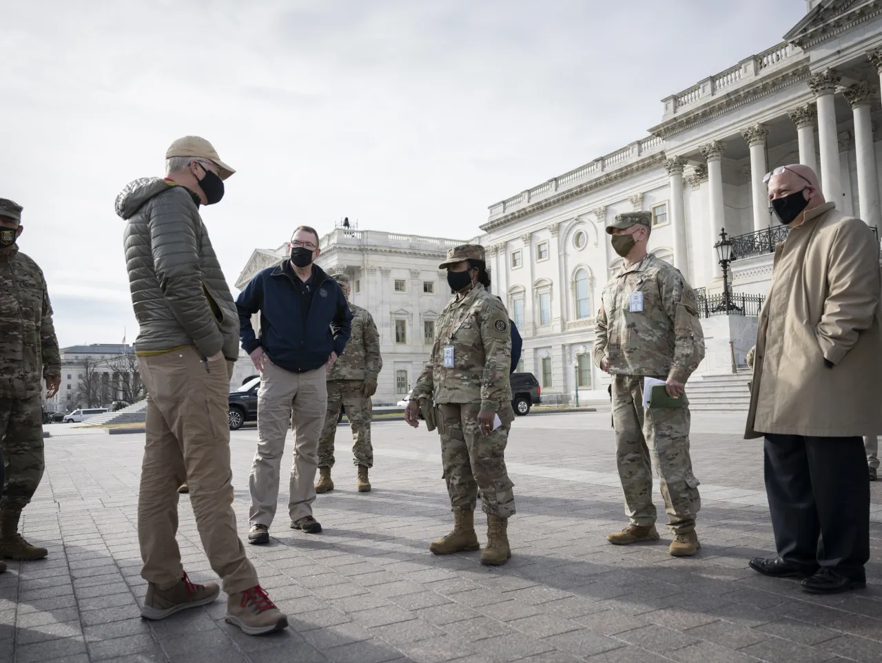
[[[514,421],[508,312],[486,290],[490,277],[482,246],[449,250],[439,265],[444,268],[456,296],[437,320],[429,361],[405,410],[407,423],[416,428],[422,407],[430,429],[436,420],[441,435],[455,522],[453,531],[432,543],[430,550],[450,555],[479,548],[473,512],[480,489],[488,525],[481,562],[505,564],[512,556],[507,531],[508,518],[514,515],[514,484],[505,470],[505,445]],[[433,397],[435,408],[430,407]]]

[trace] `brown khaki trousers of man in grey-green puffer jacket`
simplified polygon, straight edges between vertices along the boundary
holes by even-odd
[[[186,480],[202,546],[228,594],[258,585],[233,511],[227,404],[232,364],[192,346],[138,357],[147,389],[146,445],[138,495],[141,577],[166,590],[183,574],[177,488]]]

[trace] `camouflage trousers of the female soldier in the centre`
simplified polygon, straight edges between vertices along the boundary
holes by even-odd
[[[505,470],[505,445],[511,423],[490,435],[478,427],[480,403],[439,405],[441,463],[452,510],[475,510],[478,490],[484,513],[514,515],[514,484]]]

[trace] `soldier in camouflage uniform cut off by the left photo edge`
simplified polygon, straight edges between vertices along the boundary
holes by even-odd
[[[36,560],[47,550],[22,539],[19,518],[43,475],[40,381],[46,381],[47,398],[55,396],[61,357],[46,279],[34,260],[19,251],[21,210],[0,198],[0,449],[6,479],[0,499],[0,557]]]

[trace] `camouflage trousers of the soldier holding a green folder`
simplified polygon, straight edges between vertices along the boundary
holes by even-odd
[[[632,525],[648,527],[655,523],[651,457],[671,532],[694,531],[701,498],[689,456],[689,406],[644,408],[643,376],[617,375],[612,382],[612,416],[618,475],[625,513]]]

